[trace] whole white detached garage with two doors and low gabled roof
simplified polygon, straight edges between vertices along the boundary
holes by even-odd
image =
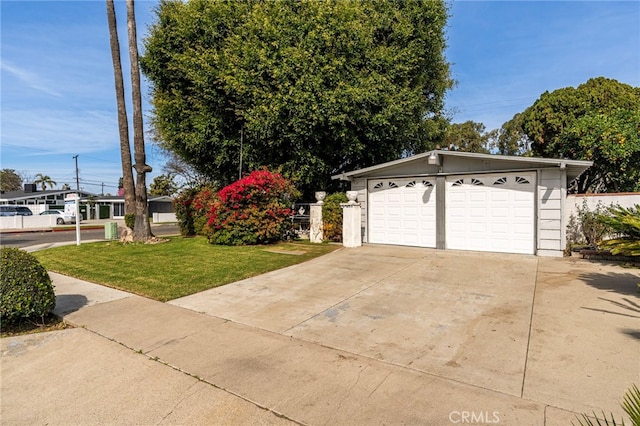
[[[349,244],[559,257],[568,188],[591,165],[433,150],[332,178],[357,192]]]

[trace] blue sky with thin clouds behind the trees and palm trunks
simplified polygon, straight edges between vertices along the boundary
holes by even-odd
[[[156,4],[136,2],[140,38]],[[124,1],[116,13],[124,48]],[[0,20],[0,167],[75,187],[79,155],[81,188],[115,193],[122,173],[105,2],[0,0]],[[640,86],[638,1],[454,1],[447,36],[453,122],[498,128],[543,92],[592,77]],[[128,72],[126,52],[122,60]],[[147,138],[148,183],[164,161]]]

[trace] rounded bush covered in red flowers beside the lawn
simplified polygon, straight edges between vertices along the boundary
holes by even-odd
[[[222,188],[210,205],[207,234],[213,244],[269,244],[292,231],[290,208],[299,193],[279,173],[262,169]]]

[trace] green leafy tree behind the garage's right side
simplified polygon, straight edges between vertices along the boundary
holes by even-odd
[[[594,162],[578,192],[640,190],[640,88],[593,78],[543,93],[514,120],[533,155]]]

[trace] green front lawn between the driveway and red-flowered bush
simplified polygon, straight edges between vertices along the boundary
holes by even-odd
[[[321,256],[335,244],[228,247],[204,238],[160,244],[101,242],[33,253],[49,271],[160,301],[197,293]],[[279,253],[274,253],[279,251]]]

